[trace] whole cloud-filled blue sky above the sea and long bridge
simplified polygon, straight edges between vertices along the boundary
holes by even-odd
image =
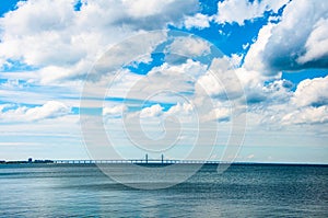
[[[328,3],[7,0],[0,160],[328,163]]]

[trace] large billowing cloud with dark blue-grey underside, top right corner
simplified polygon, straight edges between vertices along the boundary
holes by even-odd
[[[245,66],[266,74],[326,68],[327,11],[326,1],[291,1],[279,23],[269,23],[259,32],[257,42],[245,57]]]

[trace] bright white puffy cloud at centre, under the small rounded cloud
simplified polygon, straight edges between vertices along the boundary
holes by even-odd
[[[191,59],[174,66],[165,62],[136,78],[134,82],[124,87],[122,92],[128,99],[145,100],[152,96],[152,101],[176,103],[180,99],[179,93],[192,94],[195,82],[206,72],[206,67]],[[121,83],[125,84],[119,82],[114,88],[121,88]],[[117,93],[116,89],[113,90],[113,94]]]

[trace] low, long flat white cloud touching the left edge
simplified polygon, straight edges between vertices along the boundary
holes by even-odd
[[[7,110],[4,110],[5,107]],[[57,118],[68,115],[71,112],[70,107],[57,101],[48,101],[44,105],[36,107],[0,107],[0,117],[3,121],[10,122],[35,122],[47,118]]]

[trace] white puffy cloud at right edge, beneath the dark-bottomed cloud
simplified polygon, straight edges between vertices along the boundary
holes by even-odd
[[[248,104],[253,119],[270,126],[313,125],[328,122],[328,77],[303,80],[295,92],[291,83],[277,80],[265,87],[265,100],[258,106]],[[248,116],[250,116],[248,114]]]

